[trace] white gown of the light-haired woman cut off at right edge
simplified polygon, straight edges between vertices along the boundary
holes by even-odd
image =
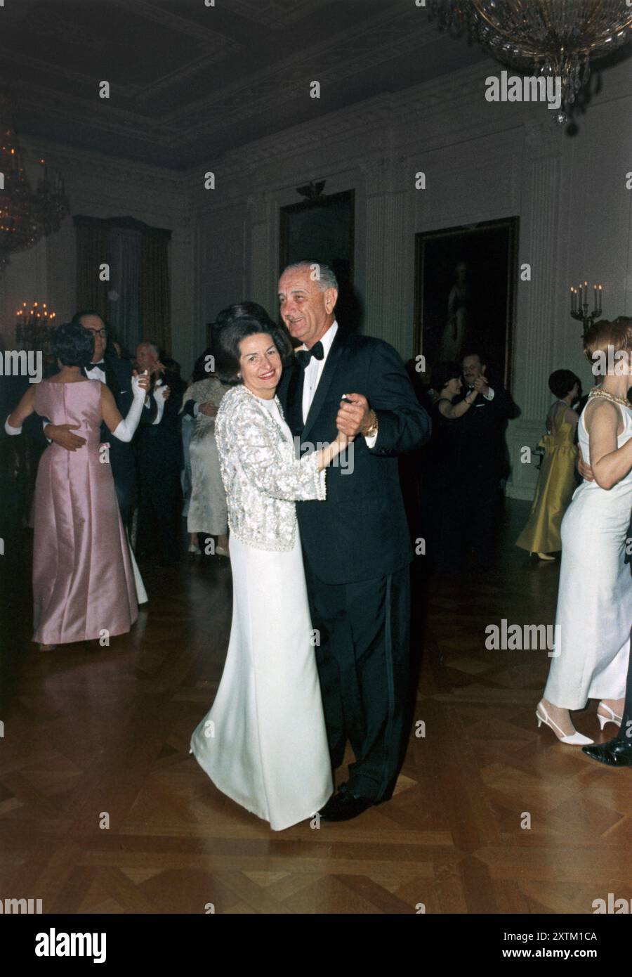
[[[622,447],[632,438],[632,408],[619,406],[624,428],[617,445]],[[585,408],[579,447],[589,463],[584,415]],[[631,507],[632,471],[608,490],[584,482],[562,522],[557,657],[551,659],[544,689],[544,698],[561,708],[583,709],[589,699],[625,696],[632,576],[624,557]]]

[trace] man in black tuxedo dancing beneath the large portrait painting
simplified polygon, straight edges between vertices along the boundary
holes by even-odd
[[[501,482],[509,475],[505,431],[518,410],[505,390],[487,378],[485,358],[463,358],[463,397],[477,398],[459,424],[462,428],[461,465],[464,476],[460,521],[462,538],[474,550],[477,570],[488,570],[495,559],[495,539],[502,498]]]

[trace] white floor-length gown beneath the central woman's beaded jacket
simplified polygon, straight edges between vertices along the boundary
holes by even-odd
[[[291,443],[275,402],[260,403]],[[311,818],[333,790],[298,526],[282,552],[232,534],[231,566],[229,650],[191,750],[215,786],[282,830]]]

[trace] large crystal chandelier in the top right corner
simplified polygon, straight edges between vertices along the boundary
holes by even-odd
[[[525,74],[562,79],[563,125],[590,62],[632,37],[626,0],[428,0],[431,21],[459,36],[467,32],[494,58]]]

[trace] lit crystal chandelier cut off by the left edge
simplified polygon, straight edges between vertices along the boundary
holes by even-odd
[[[49,175],[44,159],[37,190],[31,190],[12,107],[7,92],[0,92],[0,275],[14,252],[59,231],[68,213],[63,180],[59,173]]]

